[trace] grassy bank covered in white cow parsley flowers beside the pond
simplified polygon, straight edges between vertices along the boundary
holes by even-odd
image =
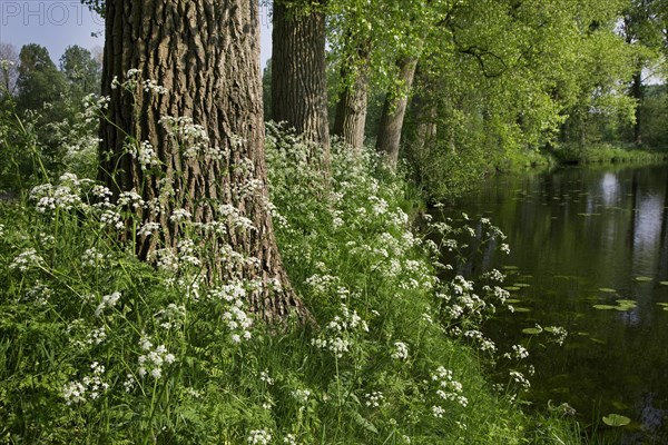
[[[202,283],[207,238],[187,215],[154,267],[118,240],[137,197],[66,175],[0,204],[0,442],[578,443],[561,411],[522,412],[523,349],[479,330],[505,310],[500,274],[436,278],[401,176],[335,147],[324,179],[308,151],[269,128],[274,224],[313,324],[254,320],[259,283]],[[430,230],[453,248],[500,237],[487,220]]]

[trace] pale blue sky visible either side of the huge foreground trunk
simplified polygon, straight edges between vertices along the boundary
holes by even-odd
[[[259,23],[264,68],[272,51],[272,20],[266,6],[259,9]],[[101,49],[104,27],[105,21],[79,0],[0,0],[0,42],[12,43],[17,52],[26,43],[41,44],[56,65],[70,44]]]

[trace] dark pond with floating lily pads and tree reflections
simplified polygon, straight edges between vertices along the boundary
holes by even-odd
[[[449,212],[487,217],[510,255],[484,264],[508,275],[514,305],[485,326],[523,344],[536,367],[527,399],[568,403],[612,443],[668,444],[668,166],[569,168],[492,178]],[[527,327],[560,325],[543,345]],[[631,419],[611,428],[602,417]]]

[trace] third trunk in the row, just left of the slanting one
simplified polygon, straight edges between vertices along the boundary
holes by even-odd
[[[364,144],[364,123],[366,121],[366,102],[369,90],[367,65],[370,53],[366,50],[357,50],[357,63],[355,67],[342,67],[341,79],[345,87],[338,96],[336,103],[336,116],[334,118],[334,135],[341,137],[354,150],[362,149]],[[350,77],[353,81],[350,81]]]

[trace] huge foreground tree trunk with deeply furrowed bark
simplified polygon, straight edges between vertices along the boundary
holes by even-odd
[[[259,281],[249,308],[268,320],[305,316],[267,206],[257,3],[115,0],[106,8],[102,95],[111,100],[99,177],[116,196],[139,194],[147,205],[136,210],[138,226],[159,227],[146,235],[126,222],[138,256],[159,265],[183,254],[193,234],[179,218],[189,219],[212,285]],[[137,81],[112,87],[132,79],[130,69]]]

